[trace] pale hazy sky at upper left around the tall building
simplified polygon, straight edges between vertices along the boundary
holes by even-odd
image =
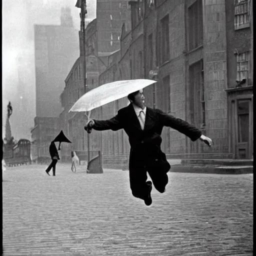
[[[6,106],[11,101],[12,136],[17,140],[30,139],[35,117],[33,24],[58,25],[61,7],[69,6],[74,27],[79,30],[80,9],[75,3],[76,0],[2,0],[2,137]],[[87,0],[87,11],[87,18],[96,17],[96,0]],[[20,124],[20,118],[26,119],[25,127]]]

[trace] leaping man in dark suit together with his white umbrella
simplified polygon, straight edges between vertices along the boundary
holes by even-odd
[[[152,190],[152,183],[160,193],[165,191],[165,186],[168,183],[167,172],[170,169],[170,165],[166,160],[165,154],[160,148],[163,126],[168,126],[178,130],[188,136],[192,141],[201,139],[208,146],[212,145],[212,140],[209,137],[202,135],[202,132],[199,129],[188,122],[166,114],[160,109],[146,107],[142,88],[152,82],[148,82],[147,85],[145,85],[145,82],[141,85],[141,80],[145,79],[137,80],[139,81],[123,81],[124,86],[122,86],[122,89],[119,89],[119,98],[123,97],[125,92],[128,92],[128,95],[126,94],[130,101],[128,106],[119,109],[117,115],[108,120],[88,120],[84,129],[88,133],[91,132],[91,129],[124,129],[128,135],[130,143],[129,181],[132,195],[144,200],[146,205],[150,205],[152,203],[150,194]],[[120,83],[121,81],[118,82]],[[114,88],[113,83],[106,84],[105,87],[112,87],[113,92],[109,93],[110,96],[107,99],[103,97],[99,104],[108,103],[118,98],[118,89]],[[104,85],[97,87],[97,90],[95,89],[95,94],[93,93],[93,90],[89,91],[90,94],[89,92],[85,93],[76,101],[77,104],[74,104],[70,110],[77,111],[77,109],[84,109],[81,107],[81,104],[82,102],[88,102],[86,94],[89,94],[89,96],[95,101],[97,99],[99,100],[99,97],[97,97],[99,94],[98,91],[100,90],[100,87],[104,89],[103,86]],[[136,87],[138,88],[137,90],[135,89]],[[111,89],[109,90],[111,91]],[[94,95],[94,97],[92,95]],[[115,98],[113,95],[115,95]],[[95,106],[97,106],[96,103],[94,103],[94,107]],[[147,180],[147,173],[149,174],[152,182]]]

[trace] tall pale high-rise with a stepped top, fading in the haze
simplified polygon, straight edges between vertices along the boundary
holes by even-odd
[[[69,8],[61,8],[60,25],[34,25],[36,116],[54,117],[61,111],[64,79],[79,56],[78,31]]]

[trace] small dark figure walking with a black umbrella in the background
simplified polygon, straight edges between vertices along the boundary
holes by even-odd
[[[49,145],[49,153],[50,153],[50,157],[51,157],[51,163],[49,164],[49,166],[46,168],[45,172],[49,174],[50,169],[52,168],[52,175],[55,176],[55,170],[56,170],[56,163],[59,160],[59,155],[58,155],[58,151],[57,148],[55,146],[54,142],[59,142],[58,144],[58,150],[60,150],[60,143],[61,142],[68,142],[71,143],[71,141],[64,135],[63,131],[61,130],[59,132],[59,134],[50,142]]]

